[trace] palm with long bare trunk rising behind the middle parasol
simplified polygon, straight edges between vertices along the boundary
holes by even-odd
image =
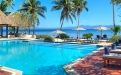
[[[79,27],[80,25],[80,14],[83,11],[83,9],[86,9],[86,11],[88,11],[88,8],[86,7],[87,5],[87,1],[84,0],[73,0],[74,4],[75,4],[75,8],[77,11],[77,16],[78,16],[78,25],[77,27]],[[78,38],[78,31],[77,31],[77,38]]]

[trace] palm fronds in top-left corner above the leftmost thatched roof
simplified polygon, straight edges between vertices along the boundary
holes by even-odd
[[[0,3],[0,10],[3,11],[4,13],[6,12],[7,9],[13,8],[14,6],[14,0],[2,0]]]

